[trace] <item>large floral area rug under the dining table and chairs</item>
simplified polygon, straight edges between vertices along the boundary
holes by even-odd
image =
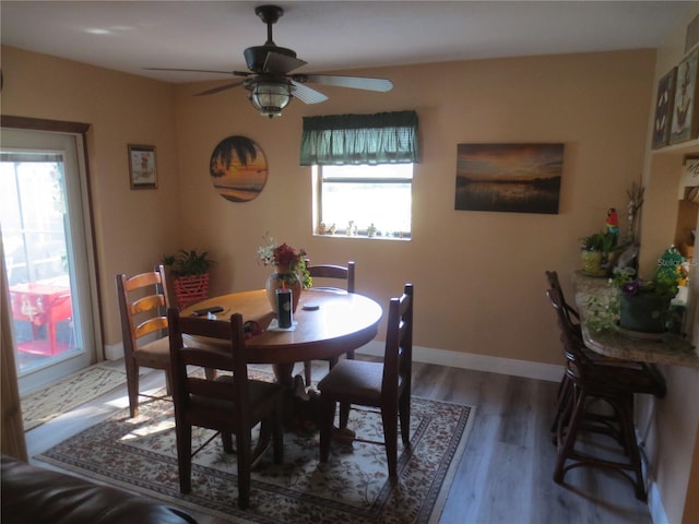
[[[378,413],[352,409],[357,439],[382,441]],[[214,522],[428,523],[437,522],[466,444],[473,408],[413,397],[411,446],[399,444],[400,481],[388,480],[382,445],[333,441],[330,460],[318,462],[318,431],[297,427],[284,434],[284,463],[271,450],[252,472],[250,508],[237,507],[236,455],[212,431],[194,428],[192,491],[180,495],[173,404],[149,401],[137,418],[123,409],[35,458],[170,505],[212,515]],[[399,439],[400,441],[400,439]],[[209,521],[208,521],[209,522]]]

